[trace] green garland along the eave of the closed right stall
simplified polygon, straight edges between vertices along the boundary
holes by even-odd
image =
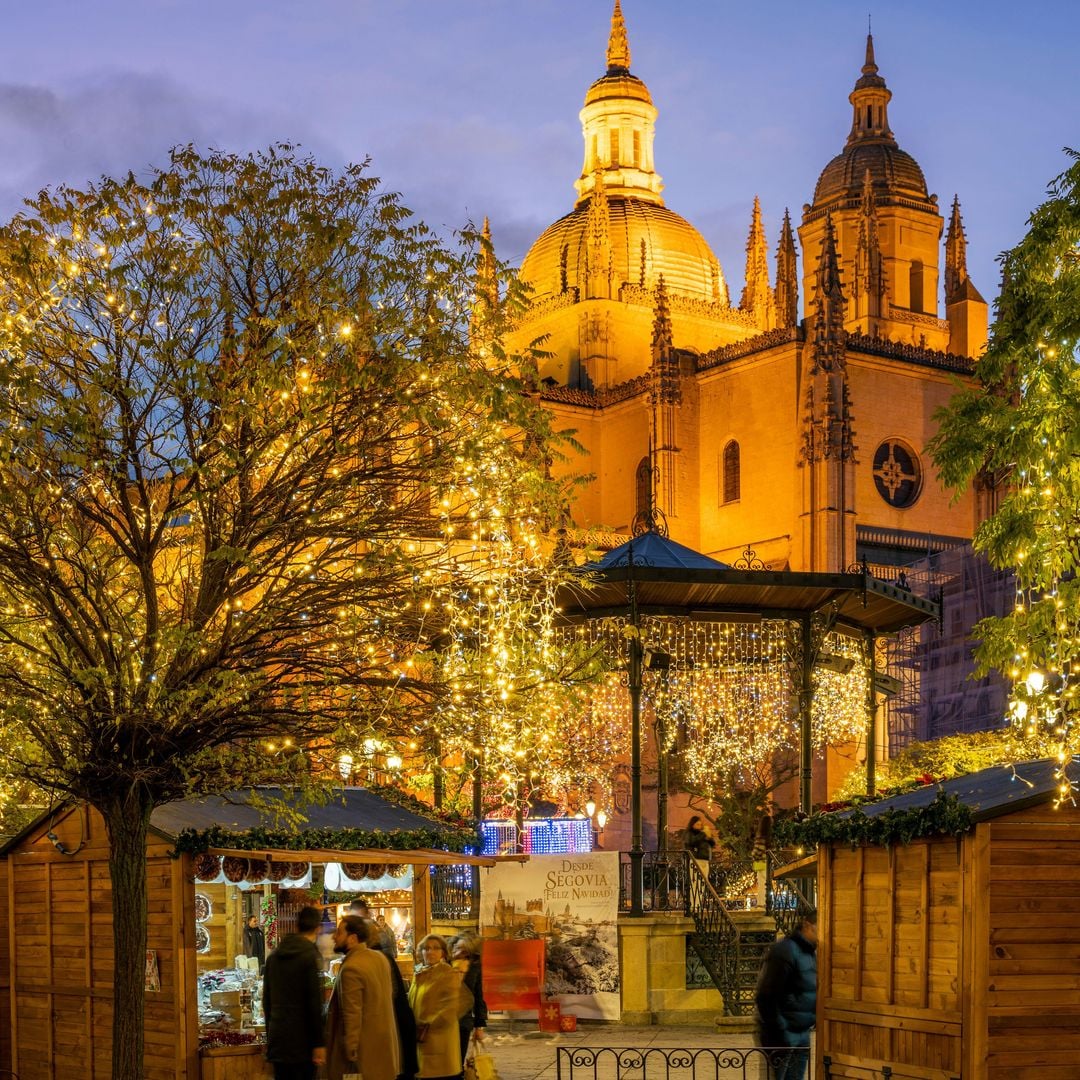
[[[955,795],[939,792],[932,802],[912,810],[886,810],[870,816],[861,809],[818,813],[798,821],[786,818],[777,823],[773,839],[778,847],[813,851],[821,843],[861,843],[885,847],[910,843],[923,836],[960,836],[971,828],[971,808]]]

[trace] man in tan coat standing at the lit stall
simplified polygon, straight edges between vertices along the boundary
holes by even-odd
[[[364,1080],[395,1080],[401,1071],[390,961],[367,947],[367,926],[347,915],[334,932],[343,953],[326,1013],[326,1080],[359,1072]]]

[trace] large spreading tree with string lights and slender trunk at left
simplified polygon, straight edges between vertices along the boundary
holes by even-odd
[[[3,769],[105,820],[118,1080],[153,808],[427,706],[440,583],[558,513],[527,357],[470,342],[474,262],[291,147],[181,148],[0,231]]]

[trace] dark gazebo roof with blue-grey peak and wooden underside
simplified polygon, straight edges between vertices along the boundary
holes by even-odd
[[[631,581],[638,616],[800,619],[835,604],[839,625],[882,634],[941,617],[940,604],[868,572],[737,570],[652,532],[586,564],[581,572],[582,583],[565,585],[559,595],[568,622],[626,615]]]

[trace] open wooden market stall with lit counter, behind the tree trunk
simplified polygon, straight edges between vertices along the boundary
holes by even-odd
[[[430,867],[496,861],[446,850],[459,839],[453,829],[364,788],[338,788],[325,805],[295,807],[299,824],[291,832],[262,806],[281,798],[281,789],[259,793],[258,806],[249,804],[249,792],[238,792],[174,802],[151,819],[147,1080],[264,1075],[259,1045],[200,1051],[200,1008],[205,1018],[212,997],[207,974],[235,962],[242,890],[302,889],[312,866],[337,864],[354,879],[379,867],[408,867],[415,882],[409,917],[419,941],[431,920]],[[111,1075],[110,893],[104,822],[83,805],[43,815],[0,848],[0,1072],[12,1070],[19,1080]],[[300,889],[291,895],[295,907],[306,899]],[[257,988],[240,975],[249,999]],[[213,1004],[221,1001],[224,1009],[246,1003],[240,1022],[251,1020],[242,991]]]

